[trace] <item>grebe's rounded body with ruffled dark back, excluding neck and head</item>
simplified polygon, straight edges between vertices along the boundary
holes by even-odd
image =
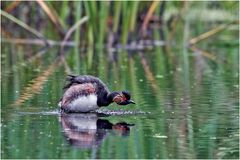
[[[108,94],[108,88],[93,76],[68,76],[68,84],[60,102],[62,109],[69,112],[89,112],[99,107],[99,100]]]

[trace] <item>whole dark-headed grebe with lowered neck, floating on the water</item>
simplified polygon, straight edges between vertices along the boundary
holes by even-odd
[[[91,112],[115,102],[118,105],[135,104],[128,91],[110,92],[97,77],[68,75],[63,96],[58,105],[68,113]]]

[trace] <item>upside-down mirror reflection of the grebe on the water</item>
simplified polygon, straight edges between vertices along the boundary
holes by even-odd
[[[106,119],[100,119],[95,113],[62,113],[60,119],[67,141],[80,148],[98,147],[110,131],[120,136],[128,136],[130,126],[134,125],[125,122],[113,124]]]

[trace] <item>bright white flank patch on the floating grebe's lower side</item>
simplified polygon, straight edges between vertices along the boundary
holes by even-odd
[[[90,94],[75,99],[68,105],[68,110],[75,112],[89,112],[98,109],[97,96]]]

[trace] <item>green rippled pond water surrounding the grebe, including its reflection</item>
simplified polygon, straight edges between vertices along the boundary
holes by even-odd
[[[129,90],[136,105],[112,104],[103,108],[116,113],[108,116],[61,115],[64,66],[50,66],[51,56],[15,64],[12,48],[3,47],[1,58],[2,158],[239,157],[237,65],[193,54],[171,69],[157,49],[121,64],[83,62],[79,73],[98,76],[110,90]]]

